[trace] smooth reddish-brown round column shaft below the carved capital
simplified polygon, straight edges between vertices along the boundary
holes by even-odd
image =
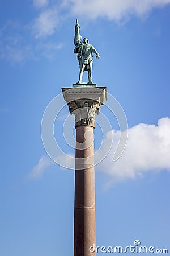
[[[90,126],[76,127],[76,142],[85,141],[84,134],[94,133]],[[87,137],[88,138],[88,137]],[[84,150],[76,149],[76,158],[86,161],[94,155],[94,143]],[[77,161],[76,161],[77,162]],[[75,199],[74,199],[74,256],[96,255],[90,253],[90,246],[95,244],[95,168],[91,166],[76,169],[75,162]],[[82,163],[84,164],[84,163]],[[86,164],[84,164],[85,166]]]

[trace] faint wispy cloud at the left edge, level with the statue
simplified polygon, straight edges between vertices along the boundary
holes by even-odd
[[[18,23],[7,22],[0,28],[0,60],[8,63],[24,64],[40,57],[54,59],[63,44],[52,41],[36,40],[29,35],[29,27]]]

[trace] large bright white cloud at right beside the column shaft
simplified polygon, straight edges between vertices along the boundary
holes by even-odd
[[[104,147],[111,139],[109,133],[104,139]],[[129,128],[125,151],[116,162],[112,159],[120,134],[118,131],[113,133],[114,146],[96,169],[113,180],[134,179],[147,171],[170,170],[170,118],[159,119],[158,126],[139,123]]]

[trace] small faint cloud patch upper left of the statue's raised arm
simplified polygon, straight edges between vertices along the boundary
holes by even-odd
[[[46,37],[52,35],[58,26],[58,12],[57,8],[46,9],[40,13],[39,17],[35,19],[32,30],[36,38]]]

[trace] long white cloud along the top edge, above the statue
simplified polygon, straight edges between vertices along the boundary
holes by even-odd
[[[86,16],[88,19],[107,17],[120,21],[130,15],[143,16],[156,7],[163,7],[170,0],[64,0],[63,7],[69,7],[75,16]]]

